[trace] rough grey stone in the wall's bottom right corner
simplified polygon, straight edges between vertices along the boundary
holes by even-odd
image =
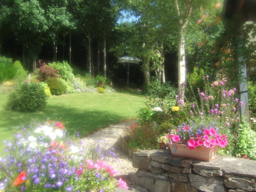
[[[256,178],[241,176],[229,177],[224,179],[224,184],[229,188],[256,191]]]

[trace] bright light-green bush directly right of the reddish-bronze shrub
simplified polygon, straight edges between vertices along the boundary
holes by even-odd
[[[73,69],[70,67],[67,61],[62,62],[52,62],[49,63],[49,66],[57,69],[57,73],[61,76],[65,81],[74,79]]]

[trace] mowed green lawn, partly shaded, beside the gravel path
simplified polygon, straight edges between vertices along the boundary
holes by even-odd
[[[11,112],[4,108],[7,94],[0,94],[0,152],[4,151],[3,140],[10,140],[20,131],[19,125],[31,119],[61,121],[68,134],[76,131],[84,137],[100,128],[120,121],[135,119],[137,111],[144,106],[145,97],[134,93],[77,93],[51,96],[44,112]]]

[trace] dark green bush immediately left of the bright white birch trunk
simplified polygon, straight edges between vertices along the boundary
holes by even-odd
[[[148,85],[144,86],[144,92],[148,96],[165,99],[167,96],[174,98],[177,94],[177,89],[171,82],[161,83],[161,81],[153,78]]]

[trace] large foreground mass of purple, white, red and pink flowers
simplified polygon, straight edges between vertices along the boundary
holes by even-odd
[[[127,188],[96,148],[67,138],[60,122],[34,124],[6,142],[8,156],[0,160],[0,191],[112,191]],[[114,155],[112,151],[109,151]],[[90,156],[93,155],[93,158]],[[88,158],[89,157],[89,158]]]

